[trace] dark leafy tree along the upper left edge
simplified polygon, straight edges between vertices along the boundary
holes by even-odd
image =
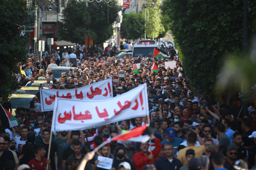
[[[19,88],[17,75],[18,63],[26,61],[28,53],[28,36],[24,33],[28,25],[33,24],[29,15],[27,1],[1,0],[0,6],[0,99],[8,97],[13,90]],[[29,30],[29,29],[27,29]]]

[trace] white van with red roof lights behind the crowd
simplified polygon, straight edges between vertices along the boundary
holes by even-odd
[[[133,45],[132,56],[154,55],[154,48],[159,48],[159,44],[155,40],[140,40]]]

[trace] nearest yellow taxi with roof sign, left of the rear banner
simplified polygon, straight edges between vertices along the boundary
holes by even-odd
[[[38,89],[38,87],[37,87]],[[16,108],[17,107],[28,107],[30,101],[32,100],[33,97],[36,95],[34,94],[25,94],[25,90],[17,90],[15,94],[11,94],[9,101],[12,104],[12,115],[16,115]]]

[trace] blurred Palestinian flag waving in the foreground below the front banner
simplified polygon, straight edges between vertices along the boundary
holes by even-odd
[[[154,134],[155,129],[143,125],[132,130],[124,131],[120,135],[111,138],[111,141],[132,141],[132,142],[147,142],[150,138],[150,134]]]

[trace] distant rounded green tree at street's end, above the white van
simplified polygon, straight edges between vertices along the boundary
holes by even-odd
[[[142,13],[124,13],[121,24],[121,38],[131,40],[144,36],[145,19]]]

